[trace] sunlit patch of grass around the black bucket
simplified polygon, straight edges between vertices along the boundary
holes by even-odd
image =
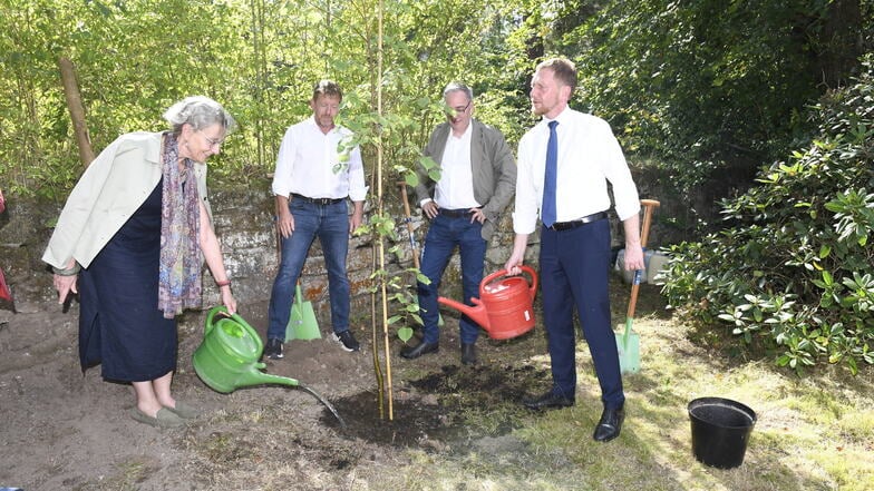
[[[514,444],[505,451],[484,450],[479,442],[462,452],[410,451],[398,472],[369,475],[359,489],[874,489],[871,370],[856,377],[835,369],[798,379],[768,361],[715,354],[669,320],[637,320],[634,328],[641,334],[642,370],[624,379],[628,416],[618,440],[592,440],[600,390],[583,343],[577,347],[574,407],[545,413],[469,407],[462,419],[477,430],[494,430],[489,416],[514,421],[516,429],[501,436]],[[523,361],[537,369],[543,362],[542,356]],[[731,399],[756,411],[739,468],[710,468],[692,454],[687,405],[701,396]]]

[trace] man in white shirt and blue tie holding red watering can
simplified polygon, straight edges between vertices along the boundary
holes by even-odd
[[[516,238],[505,268],[511,274],[521,272],[527,237],[540,215],[543,322],[548,334],[553,386],[540,397],[525,401],[525,405],[546,409],[574,404],[575,306],[604,405],[593,438],[606,442],[619,436],[625,401],[610,321],[608,181],[623,224],[627,269],[643,268],[640,200],[606,121],[567,106],[575,86],[576,68],[563,58],[540,63],[532,79],[532,108],[543,120],[519,140],[513,215]]]

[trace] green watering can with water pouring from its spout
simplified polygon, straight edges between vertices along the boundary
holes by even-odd
[[[328,400],[294,379],[264,373],[259,362],[264,345],[255,330],[224,306],[213,307],[206,315],[203,341],[194,351],[197,376],[216,392],[229,393],[241,387],[278,384],[309,392],[324,404],[346,428],[346,422]]]

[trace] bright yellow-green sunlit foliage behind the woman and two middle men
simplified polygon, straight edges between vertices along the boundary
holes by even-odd
[[[203,94],[236,117],[241,131],[212,161],[213,175],[249,180],[272,170],[285,128],[309,116],[312,85],[346,91],[342,122],[372,156],[385,141],[394,176],[416,163],[441,118],[440,91],[460,79],[488,92],[504,63],[495,26],[503,2],[386,2],[385,56],[377,79],[375,0],[0,0],[0,174],[12,192],[62,197],[81,171],[57,60],[78,70],[96,150],[119,134],[158,130],[174,101]],[[382,87],[383,117],[375,116]],[[518,132],[496,92],[480,116]],[[369,153],[369,154],[368,154]],[[372,159],[368,160],[372,165]]]

